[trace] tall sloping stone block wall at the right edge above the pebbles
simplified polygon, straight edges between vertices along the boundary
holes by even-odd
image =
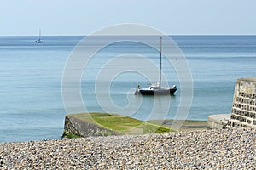
[[[256,77],[244,77],[236,81],[228,125],[256,128]]]

